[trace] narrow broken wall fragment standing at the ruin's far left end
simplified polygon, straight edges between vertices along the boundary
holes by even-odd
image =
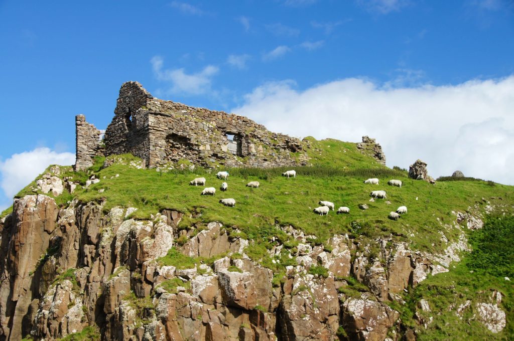
[[[100,130],[86,122],[84,115],[75,117],[76,161],[75,171],[87,169],[94,163],[97,155],[103,155],[103,143],[100,141]]]

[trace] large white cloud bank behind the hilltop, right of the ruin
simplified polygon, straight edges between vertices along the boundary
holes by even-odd
[[[514,75],[457,85],[383,86],[343,79],[303,91],[267,83],[231,110],[273,131],[358,142],[376,138],[390,167],[428,162],[434,177],[466,176],[514,184]]]

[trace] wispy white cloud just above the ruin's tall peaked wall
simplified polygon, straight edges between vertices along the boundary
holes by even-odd
[[[188,74],[185,69],[163,69],[164,60],[160,56],[154,56],[150,61],[159,81],[171,83],[168,93],[202,94],[211,89],[212,78],[218,73],[219,68],[207,65],[203,70]]]

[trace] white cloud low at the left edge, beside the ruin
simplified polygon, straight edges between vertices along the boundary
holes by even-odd
[[[0,186],[5,196],[12,198],[28,185],[34,178],[51,164],[71,165],[75,163],[75,154],[57,153],[47,147],[35,148],[31,151],[13,154],[0,162],[2,182]]]

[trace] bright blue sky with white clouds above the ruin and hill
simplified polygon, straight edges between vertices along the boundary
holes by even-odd
[[[481,148],[512,134],[512,0],[4,0],[0,32],[0,206],[14,191],[8,184],[29,181],[12,178],[23,173],[24,156],[39,148],[32,173],[69,157],[60,154],[75,152],[74,116],[105,128],[129,80],[159,98],[237,110],[295,136],[358,141],[369,132],[403,167],[426,155],[429,170],[432,161],[441,173],[434,175],[448,172],[437,164],[452,162],[448,169],[512,182],[498,171],[508,160],[486,171],[482,161],[461,160],[490,154],[466,150],[466,137],[478,138],[473,129],[486,131]],[[414,135],[433,138],[435,125],[416,128],[432,115],[452,117],[439,124],[455,129],[419,146],[400,134],[420,129]],[[318,116],[320,127],[310,121]],[[405,123],[385,131],[377,123],[384,116]],[[451,140],[457,135],[464,140]],[[455,150],[439,160],[448,144]]]

